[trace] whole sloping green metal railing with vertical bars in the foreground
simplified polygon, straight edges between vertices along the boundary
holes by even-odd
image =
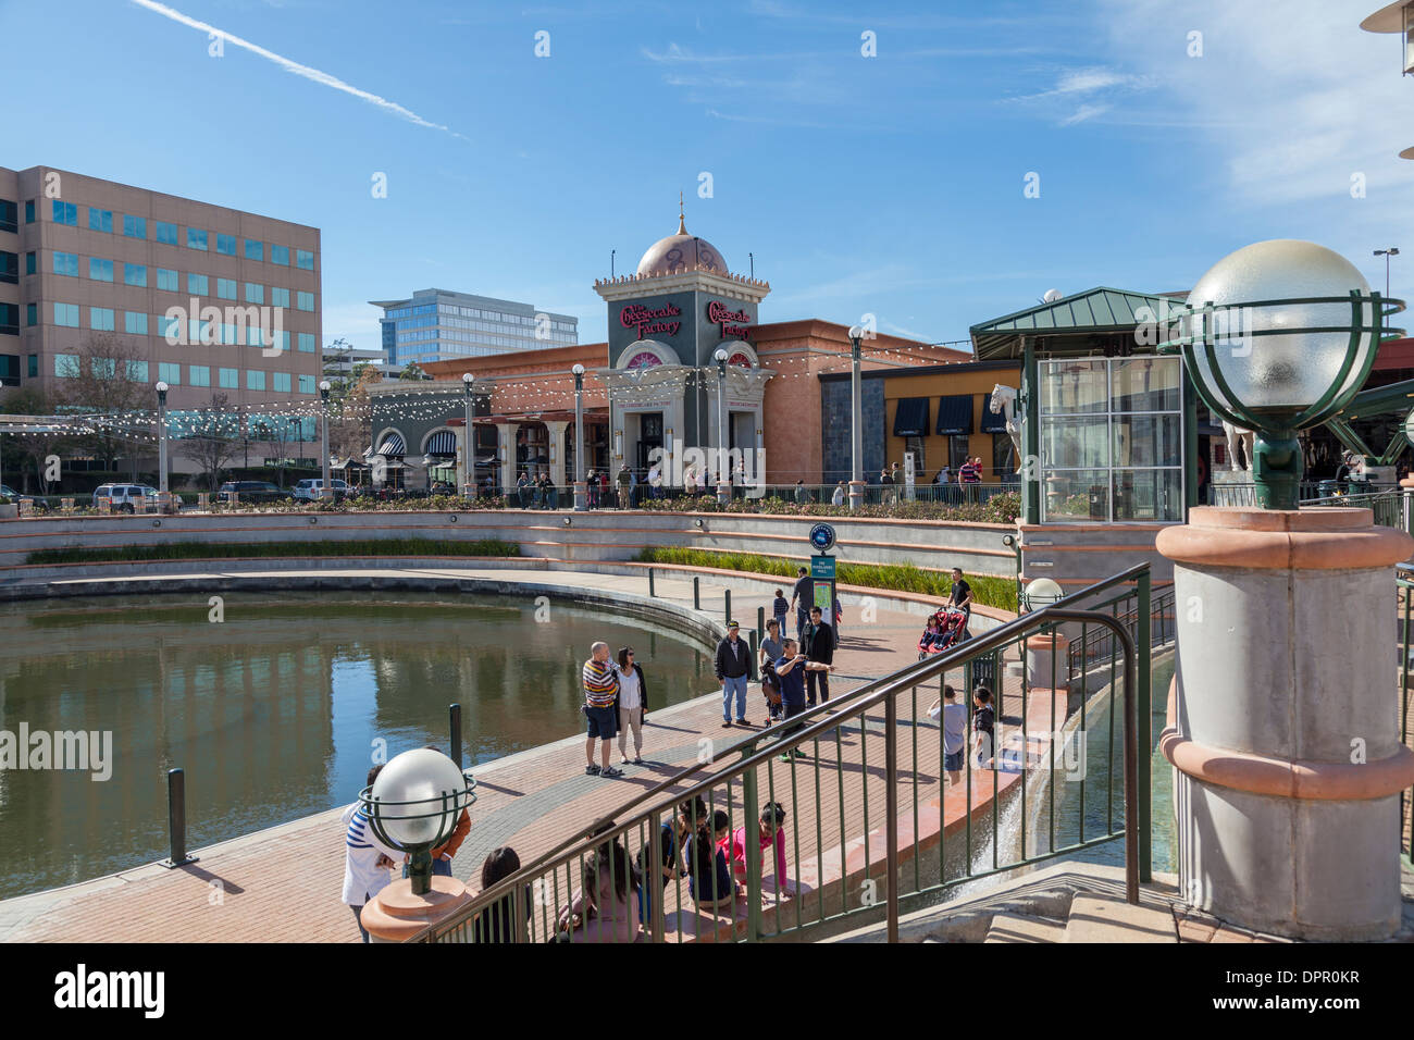
[[[1127,896],[1137,901],[1140,882],[1150,877],[1150,658],[1152,632],[1171,621],[1168,603],[1155,617],[1148,566],[1140,565],[807,709],[785,726],[732,747],[704,749],[696,764],[567,835],[417,941],[759,941],[812,938],[826,925],[880,917],[892,940],[901,913],[963,882],[1120,838]],[[1022,666],[1019,699],[1017,681],[995,698],[991,767],[974,753],[976,713],[966,722],[962,761],[945,763],[945,733],[926,707],[945,682],[960,671],[963,699],[974,685],[1001,691],[1004,669],[1027,640],[1062,625],[1079,628],[1082,645],[1090,645],[1092,631],[1110,635],[1109,681],[1114,703],[1123,703],[1120,726],[1110,710],[1106,734],[1085,730],[1086,681],[1103,664],[1052,654],[1049,675],[1028,676]],[[1027,661],[1031,671],[1035,662]],[[1032,707],[1032,678],[1048,709]],[[1068,699],[1076,688],[1082,729],[1072,737],[1100,743],[1103,736],[1107,749],[1103,761],[1085,757],[1079,773],[1062,753],[1062,732],[1068,717],[1075,720]],[[792,724],[800,729],[790,733]],[[1046,734],[1048,750],[1036,750]],[[945,765],[957,767],[954,790],[970,807],[953,812],[952,826]],[[1055,822],[1060,782],[1079,782],[1079,832],[1070,838],[1058,835]],[[1042,805],[1038,798],[1048,802],[1049,824],[1045,835],[1028,835],[1028,815]],[[1103,824],[1096,822],[1102,805]],[[1001,824],[1011,807],[1019,808],[1019,842]],[[778,811],[783,826],[766,838],[768,850],[762,826],[771,828]],[[728,862],[730,883],[718,882],[714,869],[718,838],[744,849],[740,865]],[[786,850],[785,876],[778,876],[776,846]],[[699,855],[707,849],[713,852]]]

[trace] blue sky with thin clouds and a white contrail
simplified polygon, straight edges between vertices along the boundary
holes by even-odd
[[[1403,245],[1408,296],[1414,81],[1359,30],[1377,6],[0,0],[25,109],[0,163],[321,228],[325,340],[363,347],[366,300],[428,286],[602,340],[592,280],[676,229],[679,191],[732,270],[755,255],[762,321],[956,340],[1052,287],[1186,289],[1264,238],[1379,287],[1372,249]],[[191,21],[260,52],[211,57]]]

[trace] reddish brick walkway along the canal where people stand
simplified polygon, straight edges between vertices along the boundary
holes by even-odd
[[[325,572],[327,573],[327,572]],[[438,572],[445,573],[445,572]],[[468,574],[475,572],[467,572]],[[498,580],[510,577],[505,570],[488,572]],[[543,580],[566,584],[577,580],[600,589],[622,587],[624,591],[643,593],[642,579],[575,573],[516,573],[516,580]],[[129,579],[132,582],[132,579]],[[658,594],[674,600],[689,600],[687,582],[659,577]],[[721,601],[721,587],[703,586],[704,606]],[[744,617],[755,613],[755,600],[738,593]],[[887,675],[916,659],[915,644],[922,620],[902,611],[880,610],[871,624],[861,623],[858,608],[846,606],[844,641],[836,657],[837,674],[831,693],[855,689],[872,676]],[[962,689],[960,674],[949,676]],[[1019,715],[1019,689],[1008,681],[1001,719]],[[940,792],[940,736],[936,723],[923,715],[936,696],[932,691],[918,691],[913,703],[899,705],[899,782],[905,808],[901,829],[915,826],[929,814],[947,821],[949,838],[954,825],[963,822],[966,795],[949,790]],[[1031,729],[1049,726],[1042,712],[1049,706],[1049,692],[1032,692]],[[1045,700],[1035,700],[1044,696]],[[1060,709],[1063,715],[1063,706]],[[748,717],[761,723],[764,700],[755,686],[748,695]],[[759,726],[758,726],[759,727]],[[759,780],[759,797],[772,792],[790,807],[785,792],[796,784],[802,798],[797,811],[788,821],[788,853],[790,874],[806,890],[827,884],[840,876],[854,876],[867,867],[870,859],[882,855],[884,826],[884,719],[882,710],[870,715],[867,724],[837,727],[822,740],[816,758],[786,764],[772,760]],[[916,734],[918,761],[913,763]],[[512,845],[522,862],[553,848],[564,835],[584,826],[592,818],[612,812],[626,798],[660,782],[696,760],[701,741],[721,741],[728,746],[749,740],[747,730],[721,727],[720,695],[707,695],[672,709],[653,712],[645,727],[645,758],[641,767],[625,768],[622,780],[601,780],[584,775],[584,740],[571,737],[539,749],[510,756],[475,770],[478,802],[472,808],[472,831],[454,863],[458,877],[471,890],[479,887],[479,865],[486,852],[498,845]],[[1031,758],[1036,753],[1032,739]],[[617,760],[617,753],[615,753]],[[735,758],[728,758],[735,761]],[[991,773],[974,773],[973,805],[986,805],[991,795]],[[1010,785],[1017,774],[995,774],[998,790]],[[984,782],[986,778],[986,782]],[[813,811],[816,784],[827,797],[822,799],[819,818]],[[843,794],[841,794],[843,784]],[[915,785],[916,784],[916,785]],[[740,788],[717,788],[715,808],[727,808],[732,825],[742,825]],[[809,797],[806,797],[809,794]],[[913,807],[918,807],[918,812]],[[868,828],[864,825],[865,807]],[[117,876],[98,879],[48,893],[37,893],[0,901],[0,938],[7,941],[356,941],[358,931],[351,911],[338,900],[344,872],[344,835],[339,826],[342,809],[332,809],[307,819],[260,831],[230,842],[198,849],[199,862],[180,870],[164,870],[156,865],[141,866]],[[874,835],[868,836],[867,831]],[[990,832],[990,828],[988,828]],[[976,839],[976,835],[974,835]],[[905,836],[905,840],[908,838]],[[868,853],[864,843],[870,843]],[[631,845],[636,846],[631,839]],[[567,883],[561,877],[563,883]],[[674,911],[677,886],[669,887],[665,907]],[[682,899],[686,899],[686,882]],[[854,894],[851,899],[860,899]],[[854,903],[851,903],[854,904]],[[806,896],[800,906],[810,913]],[[814,907],[816,911],[819,906]],[[549,913],[549,911],[547,911]],[[744,908],[738,907],[738,917]],[[793,923],[795,911],[788,920]],[[669,930],[686,934],[711,931],[718,921],[696,914],[670,914]]]

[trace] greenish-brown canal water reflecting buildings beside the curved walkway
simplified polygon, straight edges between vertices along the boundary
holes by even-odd
[[[197,849],[351,802],[379,756],[445,747],[452,702],[469,765],[583,733],[595,640],[635,648],[650,707],[714,685],[710,657],[670,630],[543,597],[233,593],[221,610],[0,606],[0,741],[112,734],[112,761],[86,771],[0,768],[0,899],[163,859],[173,767]]]

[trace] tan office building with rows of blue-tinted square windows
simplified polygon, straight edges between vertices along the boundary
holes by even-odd
[[[49,167],[0,168],[0,396],[61,396],[93,344],[116,342],[123,376],[171,388],[174,437],[222,395],[236,424],[284,422],[290,440],[312,439],[320,307],[318,228]]]

